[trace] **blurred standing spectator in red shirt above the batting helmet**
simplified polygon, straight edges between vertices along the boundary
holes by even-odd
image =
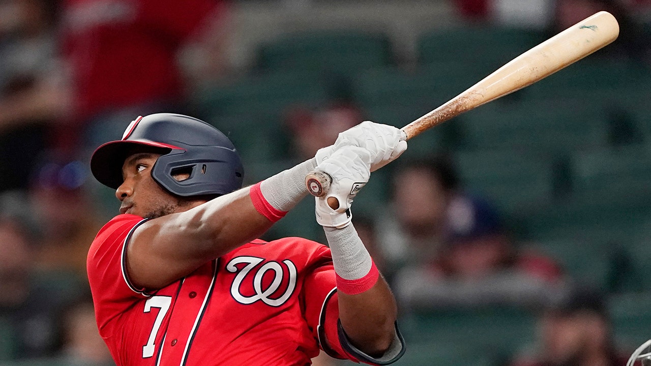
[[[203,81],[225,72],[225,1],[61,3],[62,48],[76,105],[74,120],[59,132],[60,148],[76,148],[71,136],[80,133],[87,148],[96,148],[119,139],[138,115],[182,111],[187,79],[178,58],[185,46],[192,45],[193,56],[186,60],[201,61],[193,66]]]

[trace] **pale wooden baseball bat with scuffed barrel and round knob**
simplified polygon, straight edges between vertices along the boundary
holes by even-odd
[[[518,91],[583,59],[613,42],[618,35],[619,25],[615,17],[609,12],[598,12],[525,51],[443,106],[404,126],[402,130],[407,134],[407,139],[411,139],[432,126]],[[320,171],[311,172],[305,177],[309,192],[316,197],[326,195],[330,182],[330,176]],[[339,206],[336,199],[328,203],[333,209]]]

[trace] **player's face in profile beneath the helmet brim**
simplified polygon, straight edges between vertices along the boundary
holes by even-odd
[[[145,152],[126,158],[122,165],[124,182],[115,191],[115,196],[122,202],[120,214],[159,218],[180,211],[182,201],[163,190],[152,178],[151,169],[159,156]]]

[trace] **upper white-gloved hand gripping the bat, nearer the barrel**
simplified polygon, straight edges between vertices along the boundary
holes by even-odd
[[[320,164],[340,148],[348,146],[368,150],[370,171],[376,171],[407,150],[407,135],[393,126],[367,120],[340,132],[333,145],[318,150],[316,163]]]

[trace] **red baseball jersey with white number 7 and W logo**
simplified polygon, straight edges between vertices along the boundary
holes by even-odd
[[[130,235],[145,221],[111,219],[88,256],[96,320],[118,366],[309,365],[320,346],[335,358],[376,363],[339,334],[326,246],[254,240],[147,293],[130,283],[125,264]]]

